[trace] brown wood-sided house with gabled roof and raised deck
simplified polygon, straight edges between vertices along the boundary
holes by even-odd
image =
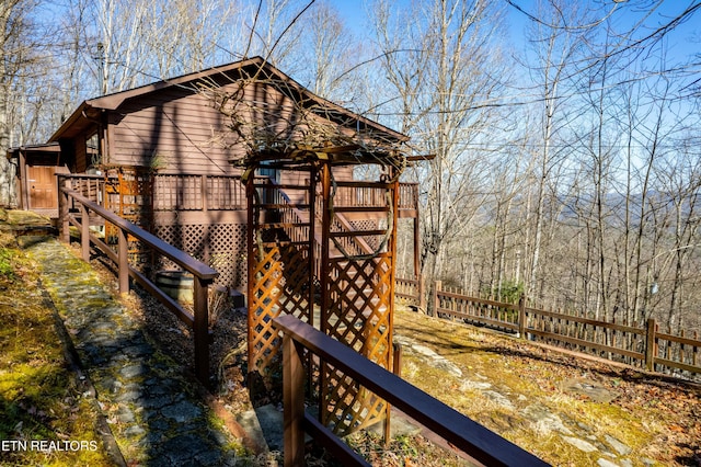
[[[252,153],[294,157],[299,149],[358,143],[387,152],[406,139],[255,57],[84,101],[48,144],[60,148],[57,167],[70,171],[74,189],[208,262],[220,285],[243,291],[249,213],[241,178],[280,186],[317,183],[309,172],[286,170],[277,157],[269,164],[258,158],[255,172],[245,173]],[[335,180],[352,180],[353,167],[335,164]],[[289,203],[306,196],[275,193]],[[403,184],[401,193],[400,217],[415,218],[416,185]],[[367,205],[372,195],[338,192],[349,204]],[[353,209],[345,220],[350,227],[382,223],[380,215]]]

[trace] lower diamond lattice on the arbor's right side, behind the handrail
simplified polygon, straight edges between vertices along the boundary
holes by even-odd
[[[325,312],[326,334],[345,342],[368,360],[391,367],[392,258],[330,261]],[[354,381],[324,365],[323,422],[337,435],[346,435],[387,417],[388,406]]]

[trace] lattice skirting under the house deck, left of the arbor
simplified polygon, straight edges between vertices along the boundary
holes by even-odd
[[[169,225],[156,226],[154,235],[217,270],[216,284],[245,289],[245,224]],[[157,264],[157,269],[177,269],[163,258]]]

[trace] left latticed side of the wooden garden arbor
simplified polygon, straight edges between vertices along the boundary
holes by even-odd
[[[254,178],[246,183],[249,374],[256,372],[268,387],[281,375],[281,339],[272,319],[287,314],[313,324],[313,208],[291,201],[289,194],[300,192],[310,200],[313,186]]]

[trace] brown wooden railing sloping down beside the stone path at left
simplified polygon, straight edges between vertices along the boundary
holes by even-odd
[[[205,385],[209,380],[209,317],[208,317],[208,287],[219,274],[185,252],[164,242],[140,227],[123,219],[108,209],[100,206],[94,200],[72,189],[74,180],[60,180],[59,193],[59,238],[64,242],[70,241],[69,226],[73,225],[80,232],[81,255],[84,261],[90,261],[90,246],[94,244],[105,253],[116,265],[120,293],[129,292],[129,277],[138,282],[149,294],[159,299],[181,321],[187,324],[194,334],[195,346],[195,374]],[[90,231],[90,217],[97,215],[114,225],[118,231],[118,248],[115,252],[101,238]],[[131,237],[147,248],[159,252],[184,271],[194,276],[194,314],[184,309],[177,301],[165,295],[146,275],[133,267],[128,262],[128,238]]]

